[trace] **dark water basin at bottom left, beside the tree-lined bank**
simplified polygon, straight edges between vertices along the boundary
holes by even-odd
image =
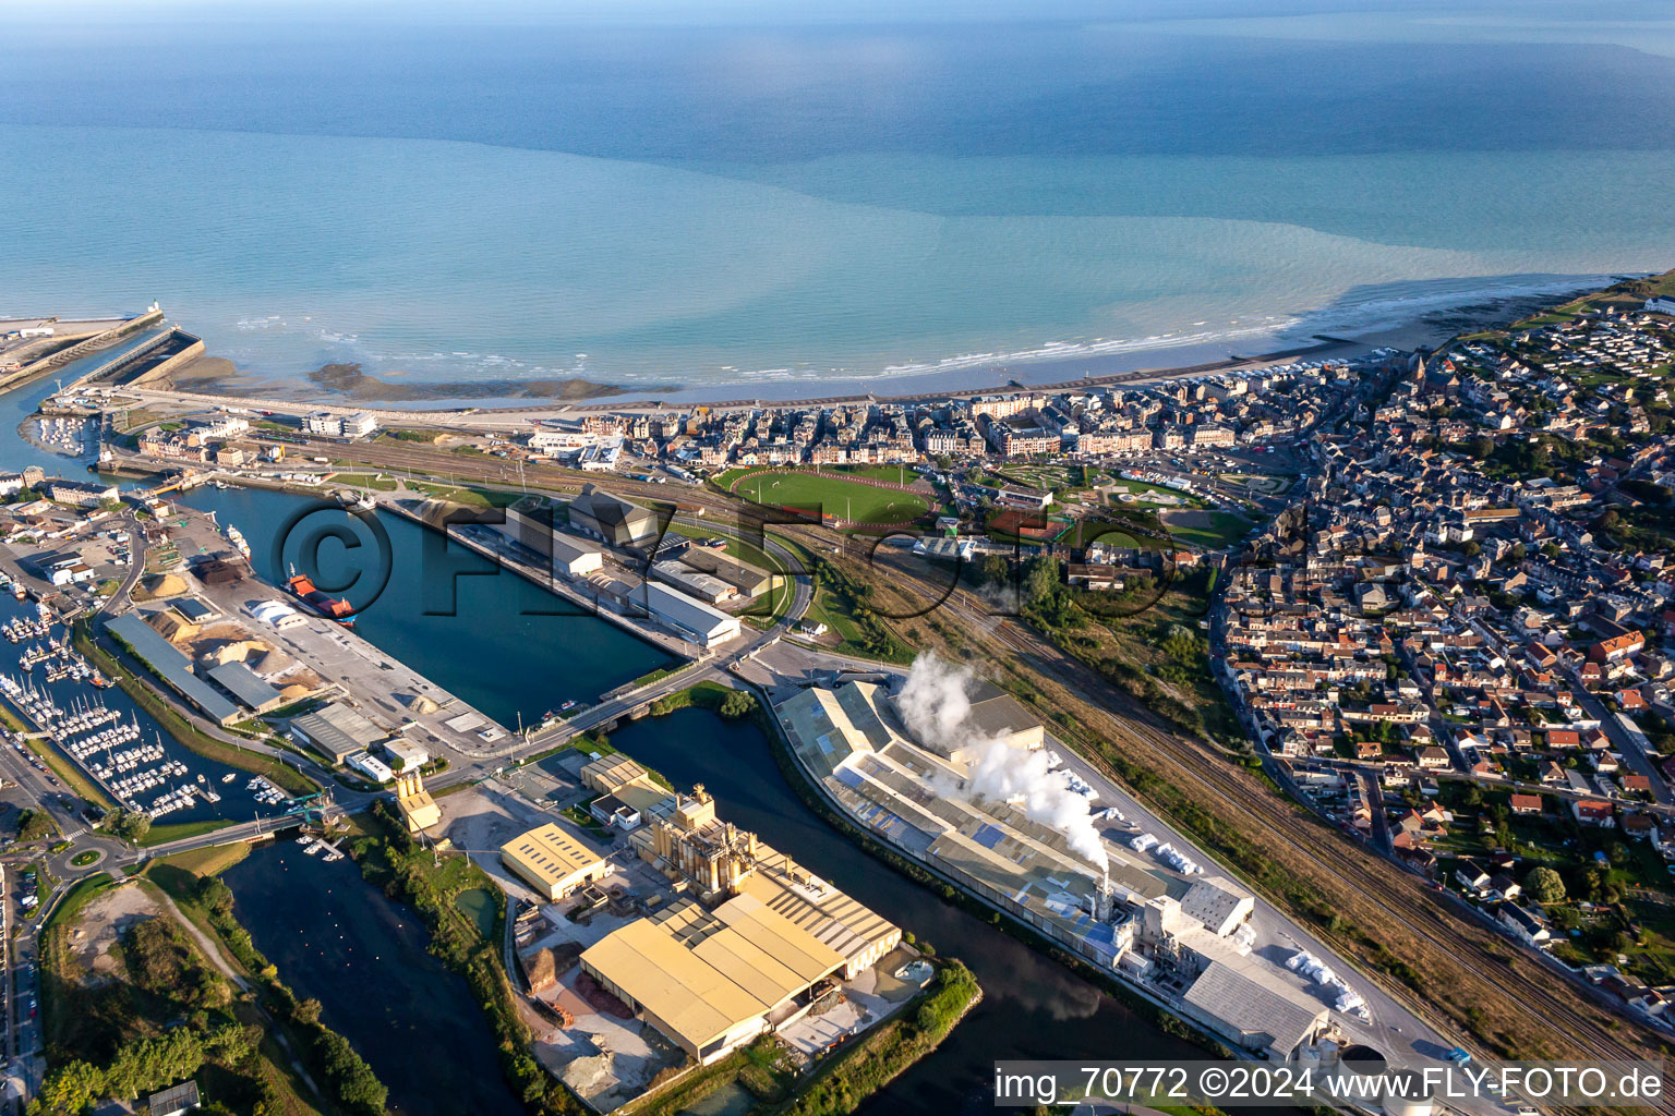
[[[320,1001],[320,1021],[389,1086],[395,1116],[521,1116],[494,1032],[466,979],[425,952],[407,907],[291,840],[223,873],[233,910],[280,979]]]

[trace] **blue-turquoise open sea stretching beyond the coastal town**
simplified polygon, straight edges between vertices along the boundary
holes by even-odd
[[[156,299],[296,390],[789,397],[1675,266],[1667,7],[1333,7],[25,0],[0,316]]]

